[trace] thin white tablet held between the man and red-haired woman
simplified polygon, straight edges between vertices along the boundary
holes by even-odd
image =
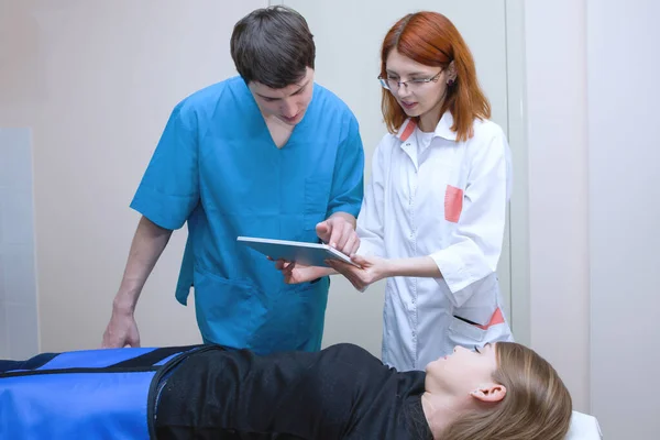
[[[326,260],[341,260],[354,265],[348,255],[322,243],[258,239],[255,237],[239,237],[237,240],[273,260],[285,260],[307,266],[322,267],[328,267]]]

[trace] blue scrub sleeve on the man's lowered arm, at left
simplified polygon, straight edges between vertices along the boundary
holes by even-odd
[[[131,208],[161,228],[182,228],[199,201],[197,155],[197,118],[182,102],[172,111]]]

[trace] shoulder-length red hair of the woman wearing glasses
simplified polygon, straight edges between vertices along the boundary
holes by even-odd
[[[459,141],[472,138],[475,119],[491,118],[491,103],[476,79],[476,68],[470,48],[463,37],[444,15],[438,12],[417,12],[400,19],[383,41],[381,50],[381,75],[386,77],[386,61],[396,48],[402,55],[424,64],[448,68],[454,63],[457,78],[448,86],[440,114],[450,111],[453,117],[451,130]],[[396,133],[407,119],[395,97],[383,89],[383,118],[391,133]]]

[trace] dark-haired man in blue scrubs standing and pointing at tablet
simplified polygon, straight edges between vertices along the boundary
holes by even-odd
[[[285,284],[239,235],[359,248],[364,152],[353,113],[314,82],[315,43],[297,12],[260,9],[237,23],[240,76],[172,112],[131,207],[142,213],[103,346],[139,346],[140,293],[172,231],[187,222],[176,298],[195,287],[205,342],[257,353],[317,351],[329,279]]]

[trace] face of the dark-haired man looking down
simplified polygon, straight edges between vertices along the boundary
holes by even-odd
[[[248,87],[265,118],[275,117],[288,125],[296,125],[311,102],[314,69],[308,67],[302,79],[282,89],[272,89],[254,81]]]

